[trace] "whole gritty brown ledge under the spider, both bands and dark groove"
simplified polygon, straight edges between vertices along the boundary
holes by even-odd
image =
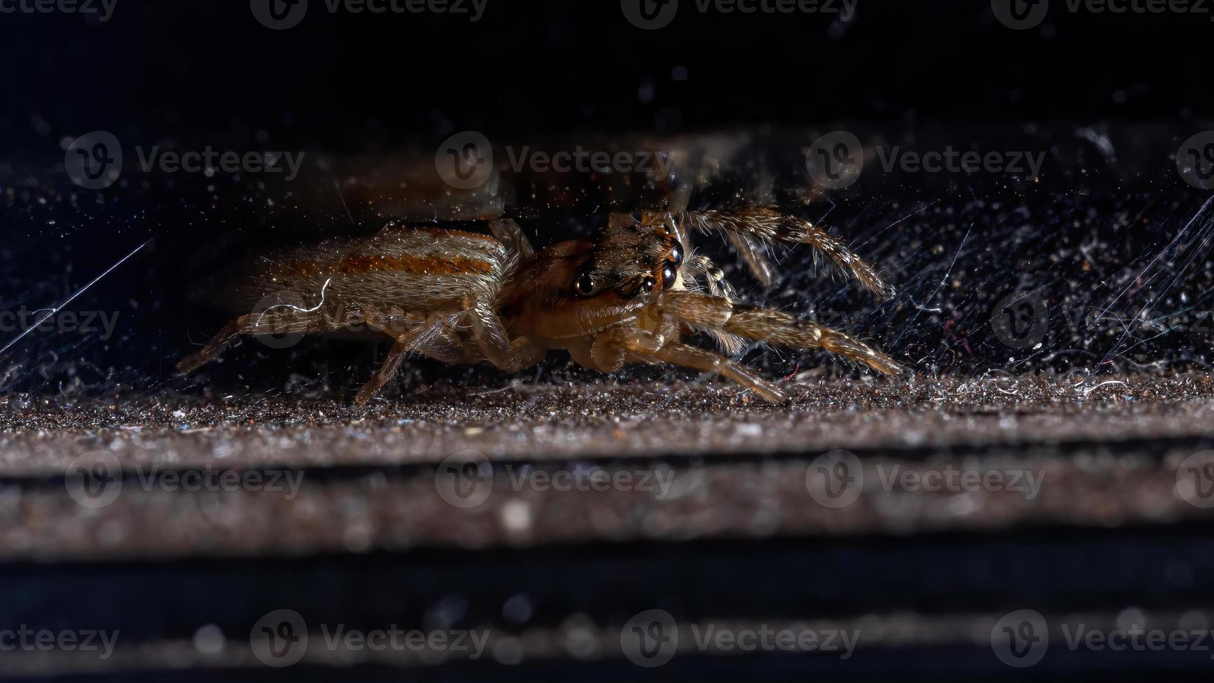
[[[19,520],[0,530],[8,558],[307,554],[1206,518],[1175,485],[1181,462],[1214,439],[1214,382],[824,382],[779,406],[717,385],[528,386],[369,408],[10,399],[2,420],[0,506]],[[868,472],[844,508],[807,489],[811,462],[834,449],[858,454]],[[123,477],[117,500],[93,510],[68,495],[64,472],[98,453]],[[447,502],[435,465],[449,456],[495,463],[484,502]],[[649,484],[517,483],[521,472],[577,467]],[[1039,491],[881,485],[891,471],[946,467],[1032,472]],[[148,483],[188,471],[280,490]]]

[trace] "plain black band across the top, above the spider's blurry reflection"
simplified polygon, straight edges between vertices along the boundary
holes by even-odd
[[[1071,15],[1055,0],[1044,24],[1017,32],[982,0],[861,0],[843,25],[838,15],[700,15],[683,0],[670,25],[640,30],[611,0],[489,0],[477,23],[313,4],[282,32],[239,0],[118,0],[103,24],[5,15],[0,142],[248,129],[361,149],[448,126],[493,136],[1212,113],[1210,15]],[[639,98],[645,84],[652,101]]]

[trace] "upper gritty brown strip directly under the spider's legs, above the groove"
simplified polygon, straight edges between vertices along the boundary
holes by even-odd
[[[1214,380],[1206,375],[827,381],[792,393],[787,405],[772,405],[719,382],[515,385],[368,408],[290,397],[66,405],[7,397],[0,399],[0,473],[62,473],[93,449],[113,450],[127,465],[330,467],[437,462],[465,449],[517,460],[711,459],[1214,433]]]

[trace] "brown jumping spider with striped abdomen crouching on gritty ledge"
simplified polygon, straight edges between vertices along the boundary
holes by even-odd
[[[690,233],[727,235],[760,278],[760,244],[802,243],[824,254],[878,296],[892,295],[878,272],[809,221],[770,209],[613,214],[589,239],[535,252],[514,221],[490,221],[493,237],[390,224],[370,238],[330,240],[266,261],[253,291],[272,303],[225,326],[178,365],[189,372],[237,335],[319,334],[370,329],[395,340],[358,392],[369,400],[410,353],[444,363],[488,360],[505,371],[566,348],[579,364],[612,372],[625,363],[670,363],[717,372],[771,402],[771,382],[727,357],[691,346],[694,331],[726,353],[743,340],[824,348],[884,374],[903,369],[850,336],[787,313],[734,302],[705,256],[690,256]]]

